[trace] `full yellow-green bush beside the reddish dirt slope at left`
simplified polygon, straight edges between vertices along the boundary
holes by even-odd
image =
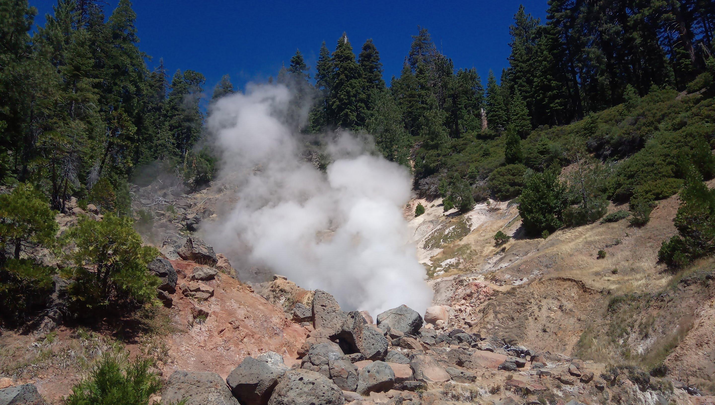
[[[66,258],[74,266],[64,271],[71,279],[69,296],[79,314],[99,309],[127,311],[156,297],[159,279],[147,264],[159,254],[142,246],[132,219],[107,214],[101,222],[84,217],[69,230],[66,241],[75,246]]]

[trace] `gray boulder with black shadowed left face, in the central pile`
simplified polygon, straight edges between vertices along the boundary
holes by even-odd
[[[342,331],[337,335],[352,352],[360,352],[368,360],[382,360],[388,354],[388,339],[375,326],[368,324],[360,311],[345,316]]]

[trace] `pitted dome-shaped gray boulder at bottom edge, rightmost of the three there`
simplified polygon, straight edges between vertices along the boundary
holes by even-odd
[[[342,405],[342,390],[322,374],[290,370],[278,381],[268,405]]]

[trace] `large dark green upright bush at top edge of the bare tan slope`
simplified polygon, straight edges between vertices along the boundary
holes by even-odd
[[[558,181],[555,171],[532,174],[519,197],[524,230],[530,235],[556,231],[563,226],[563,210],[567,205],[566,188]]]

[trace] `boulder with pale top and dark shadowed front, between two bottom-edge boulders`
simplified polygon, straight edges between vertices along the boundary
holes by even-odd
[[[262,355],[261,360],[248,356],[231,371],[226,384],[241,404],[266,405],[287,369],[282,357],[279,362],[273,356]]]

